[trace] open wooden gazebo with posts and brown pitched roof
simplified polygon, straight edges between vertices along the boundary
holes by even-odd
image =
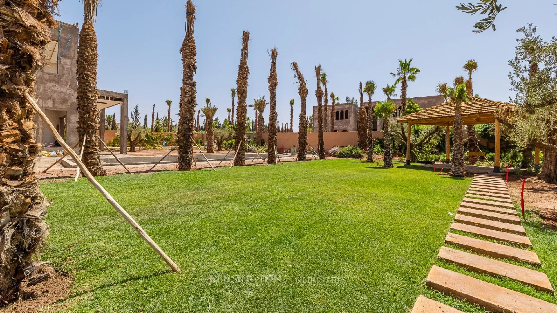
[[[492,101],[488,99],[470,97],[461,105],[462,125],[476,124],[495,124],[495,167],[494,173],[500,173],[500,145],[501,133],[499,128],[499,120],[495,117],[496,113],[507,114],[513,105]],[[447,163],[449,163],[451,154],[451,145],[449,140],[450,126],[455,124],[455,104],[446,102],[436,106],[429,107],[426,110],[418,111],[409,115],[402,116],[397,119],[398,123],[408,123],[408,135],[406,143],[406,164],[410,165],[410,136],[412,133],[412,125],[437,125],[445,126],[446,135],[446,153]]]

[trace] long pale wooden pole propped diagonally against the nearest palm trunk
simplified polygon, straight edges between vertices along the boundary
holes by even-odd
[[[118,213],[120,213],[120,215],[124,217],[126,222],[128,222],[131,225],[131,227],[133,227],[135,229],[135,231],[139,233],[139,236],[141,236],[141,238],[143,238],[149,244],[149,246],[152,247],[153,250],[155,250],[155,252],[157,252],[157,254],[160,257],[163,258],[164,262],[166,262],[170,266],[170,268],[172,268],[172,270],[174,272],[180,273],[180,268],[178,268],[176,263],[174,263],[172,260],[170,260],[170,258],[157,245],[157,243],[155,243],[153,241],[153,239],[151,239],[149,237],[149,235],[147,233],[145,233],[143,228],[141,228],[141,226],[139,226],[139,224],[137,222],[135,222],[133,217],[131,217],[130,214],[128,214],[128,212],[126,212],[120,206],[120,204],[118,204],[118,202],[116,202],[116,200],[114,200],[114,198],[104,188],[102,188],[101,184],[99,184],[99,182],[97,182],[97,180],[93,177],[93,175],[91,175],[91,173],[89,172],[89,170],[87,170],[87,168],[85,167],[85,164],[83,164],[83,162],[81,162],[81,160],[79,159],[79,157],[77,156],[75,151],[71,150],[70,146],[66,143],[66,141],[63,140],[62,136],[60,136],[60,134],[58,134],[56,132],[56,129],[54,128],[52,123],[50,123],[50,120],[48,120],[45,113],[43,113],[41,108],[37,105],[37,102],[35,102],[35,100],[33,100],[33,98],[29,94],[25,94],[25,97],[29,102],[31,102],[31,105],[33,106],[33,109],[35,109],[35,112],[39,116],[41,116],[41,119],[42,119],[43,123],[45,123],[48,126],[48,128],[50,128],[50,131],[52,131],[52,134],[55,136],[56,140],[58,140],[58,143],[60,143],[67,151],[70,152],[71,157],[75,160],[75,162],[77,163],[77,166],[83,171],[83,174],[85,175],[87,180],[89,180],[89,182],[92,185],[94,185],[95,188],[97,190],[99,190],[99,192],[102,195],[104,195],[106,200],[108,200],[108,202],[116,209],[116,211],[118,211]]]

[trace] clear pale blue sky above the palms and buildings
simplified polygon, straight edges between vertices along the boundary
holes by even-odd
[[[557,30],[553,2],[500,0],[508,8],[497,17],[497,31],[475,34],[472,25],[481,17],[457,11],[460,2],[454,0],[194,1],[198,108],[209,97],[219,107],[219,120],[227,117],[243,30],[251,32],[248,104],[260,95],[268,99],[267,50],[276,46],[278,120],[289,122],[288,102],[294,98],[295,128],[300,98],[290,69],[292,61],[298,62],[308,82],[309,114],[316,104],[314,66],[318,63],[328,74],[329,92],[344,100],[345,96],[358,99],[360,81],[374,80],[379,87],[392,84],[389,74],[397,69],[398,58],[413,58],[412,64],[422,70],[409,85],[409,97],[433,95],[437,82],[452,82],[455,76],[465,75],[462,66],[473,58],[479,66],[473,76],[475,94],[507,101],[513,95],[507,61],[514,57],[515,40],[520,37],[515,30],[534,23],[539,35],[549,40]],[[99,9],[98,87],[128,90],[130,110],[139,105],[149,123],[153,104],[161,116],[167,114],[166,99],[174,101],[172,115],[178,113],[184,3],[107,0]],[[83,23],[81,2],[62,1],[60,14],[58,19],[63,22]],[[373,100],[383,99],[379,89]],[[114,111],[109,109],[107,114]],[[248,116],[253,116],[253,110],[248,109]]]

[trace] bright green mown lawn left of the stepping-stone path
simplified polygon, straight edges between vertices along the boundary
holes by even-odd
[[[423,281],[470,184],[355,159],[99,181],[182,274],[85,179],[43,182],[53,204],[42,259],[75,283],[62,312],[406,312],[419,294],[449,301]]]

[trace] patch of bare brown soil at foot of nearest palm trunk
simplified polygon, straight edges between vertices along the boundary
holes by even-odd
[[[72,282],[70,277],[55,275],[35,286],[26,285],[27,280],[21,284],[20,298],[6,306],[0,306],[0,313],[35,313],[41,309],[51,312],[54,307],[49,306],[70,295]]]

